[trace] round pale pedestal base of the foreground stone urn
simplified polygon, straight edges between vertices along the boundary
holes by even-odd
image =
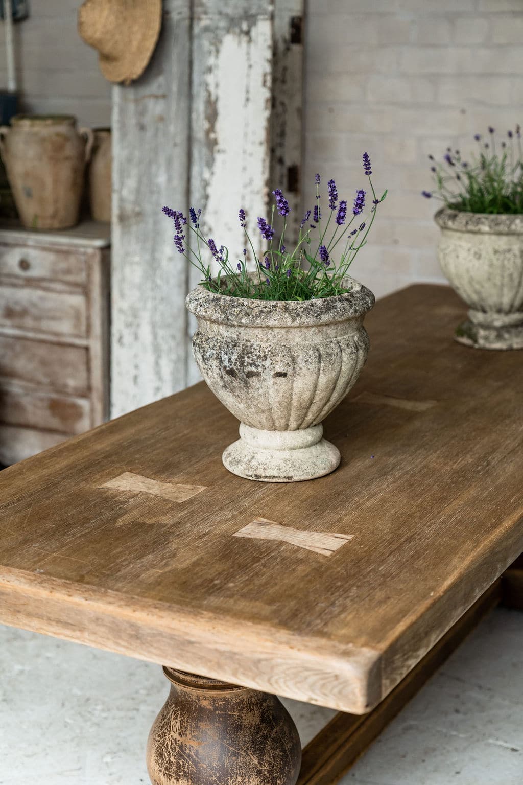
[[[265,431],[242,423],[240,438],[223,452],[223,466],[246,480],[265,483],[314,480],[340,466],[340,451],[322,435],[322,425]]]

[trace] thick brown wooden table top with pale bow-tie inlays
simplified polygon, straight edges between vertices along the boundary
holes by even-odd
[[[523,550],[523,353],[456,344],[463,312],[376,304],[319,480],[228,473],[203,384],[5,469],[0,621],[369,710]]]

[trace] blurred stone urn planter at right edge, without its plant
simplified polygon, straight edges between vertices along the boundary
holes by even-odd
[[[456,328],[476,349],[523,349],[523,215],[466,213],[443,207],[439,262],[469,306]]]

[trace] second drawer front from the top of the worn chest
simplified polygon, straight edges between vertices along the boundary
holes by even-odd
[[[0,327],[82,338],[87,331],[86,310],[83,294],[0,287]]]

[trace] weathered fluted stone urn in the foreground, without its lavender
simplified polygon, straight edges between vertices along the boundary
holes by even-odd
[[[249,300],[198,286],[187,308],[198,319],[193,351],[205,382],[240,421],[223,453],[249,480],[312,480],[336,469],[340,452],[321,421],[354,385],[367,353],[363,327],[374,295],[347,278],[347,294],[307,301]]]

